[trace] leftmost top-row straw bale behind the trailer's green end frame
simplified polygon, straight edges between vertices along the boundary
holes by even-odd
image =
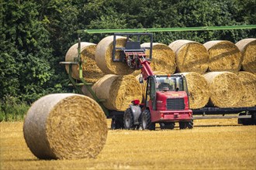
[[[81,42],[81,62],[82,62],[82,70],[83,70],[83,77],[86,81],[95,83],[98,81],[102,76],[105,74],[102,70],[99,69],[95,62],[95,50],[96,44],[90,42]],[[68,49],[67,54],[65,56],[65,61],[74,62],[74,58],[78,57],[78,43],[71,46]],[[68,73],[69,66],[66,65],[66,70]],[[79,66],[73,65],[72,66],[72,77],[74,79],[79,79]]]

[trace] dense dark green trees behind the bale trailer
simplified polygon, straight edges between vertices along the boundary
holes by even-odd
[[[255,24],[254,0],[3,0],[0,2],[0,100],[31,104],[47,93],[71,91],[64,60],[78,29],[164,28]],[[252,30],[158,32],[155,42],[176,39],[237,42]],[[104,34],[80,35],[98,43]],[[2,108],[3,109],[3,108]]]

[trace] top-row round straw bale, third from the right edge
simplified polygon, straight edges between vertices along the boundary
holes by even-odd
[[[175,52],[176,72],[205,73],[209,66],[209,55],[201,43],[179,39],[169,47]]]

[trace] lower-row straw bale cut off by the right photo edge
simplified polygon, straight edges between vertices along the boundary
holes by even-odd
[[[244,87],[242,99],[237,103],[237,107],[254,107],[256,105],[256,75],[240,71],[237,76]]]

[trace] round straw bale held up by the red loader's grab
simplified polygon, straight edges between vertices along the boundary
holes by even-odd
[[[116,36],[116,47],[126,45],[126,37]],[[112,60],[113,36],[102,39],[96,48],[95,61],[104,73],[126,75],[133,73],[133,70],[123,62],[113,62]],[[120,59],[121,50],[116,50],[116,59]]]

